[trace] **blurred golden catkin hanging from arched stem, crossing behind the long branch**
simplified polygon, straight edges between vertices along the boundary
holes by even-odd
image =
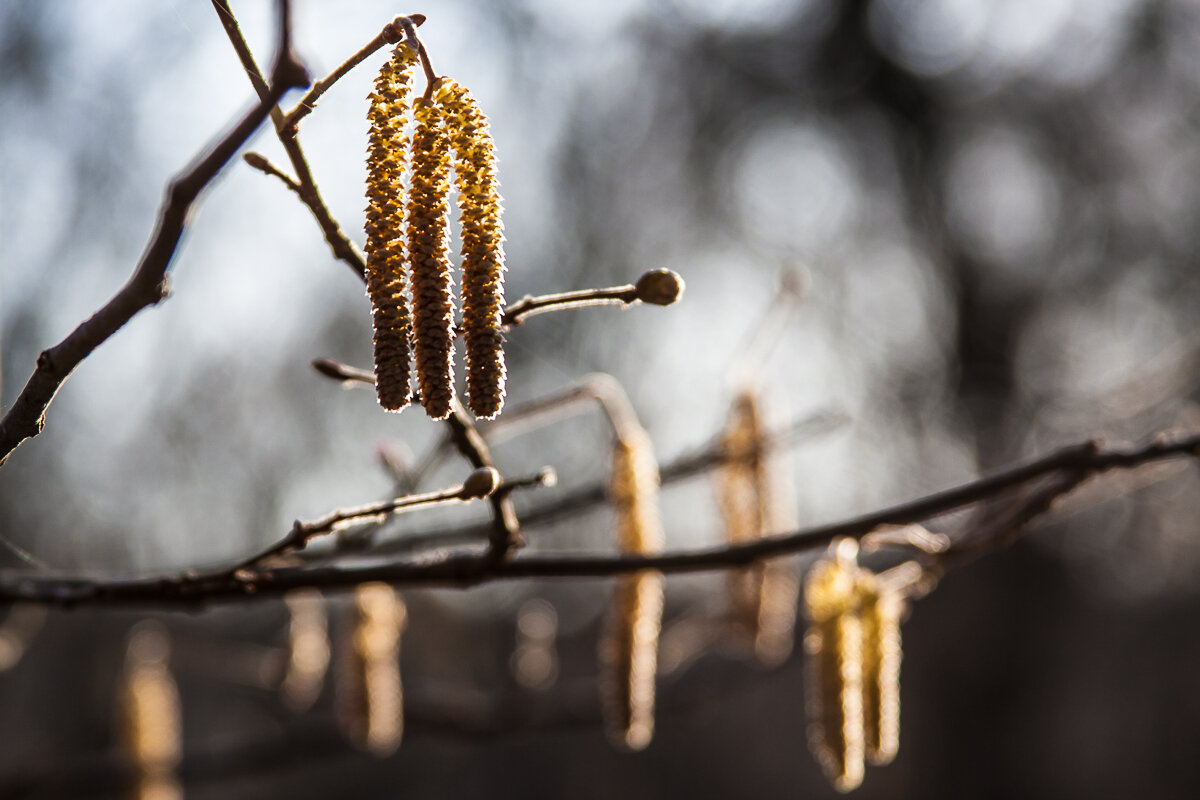
[[[624,431],[613,450],[611,497],[622,553],[658,553],[662,524],[659,467],[649,437]],[[662,626],[662,573],[642,570],[617,578],[600,645],[605,723],[619,747],[642,750],[654,735],[654,684]]]

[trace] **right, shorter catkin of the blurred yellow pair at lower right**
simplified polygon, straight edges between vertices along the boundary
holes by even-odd
[[[900,619],[905,599],[868,573],[859,581],[863,624],[863,730],[866,760],[889,763],[900,748]]]

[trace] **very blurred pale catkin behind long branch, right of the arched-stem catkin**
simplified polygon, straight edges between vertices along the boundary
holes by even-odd
[[[737,545],[780,533],[769,443],[754,392],[743,391],[734,399],[721,444],[726,461],[716,481],[726,541]],[[749,643],[760,663],[782,663],[792,651],[799,590],[791,565],[786,560],[756,561],[731,570],[727,581],[734,636]]]

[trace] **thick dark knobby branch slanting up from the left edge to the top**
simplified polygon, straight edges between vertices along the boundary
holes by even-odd
[[[308,74],[292,50],[290,5],[281,0],[278,46],[271,70],[271,85],[264,85],[258,104],[242,115],[228,133],[188,169],[170,180],[158,210],[154,235],[126,284],[70,336],[37,356],[32,377],[4,420],[0,420],[0,464],[22,441],[41,433],[46,410],[72,371],[134,314],[167,297],[167,269],[184,235],[192,204],[258,130],[284,92],[306,85]]]

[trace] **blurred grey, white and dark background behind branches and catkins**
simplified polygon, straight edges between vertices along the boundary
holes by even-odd
[[[271,5],[234,11],[260,62]],[[755,371],[778,420],[848,422],[791,458],[798,524],[961,482],[1092,435],[1200,425],[1200,6],[1190,0],[553,0],[296,6],[322,76],[397,12],[492,120],[510,297],[625,283],[667,308],[586,309],[509,338],[509,403],[592,372],[626,387],[662,461],[709,441],[784,276],[809,293]],[[301,127],[361,242],[377,54]],[[0,6],[0,343],[7,408],[36,354],[127,277],[163,186],[252,94],[206,4]],[[289,98],[294,102],[294,97]],[[290,106],[290,102],[288,103]],[[252,148],[286,158],[263,131]],[[340,391],[316,356],[371,362],[360,281],[277,181],[230,163],[172,297],[90,357],[0,470],[0,565],[134,575],[209,565],[295,518],[390,491],[376,452],[424,453],[419,411]],[[509,474],[602,479],[594,413],[499,441]],[[430,487],[460,481],[452,459]],[[1200,503],[1194,467],[1105,480],[1009,551],[958,570],[906,624],[902,746],[863,798],[1194,796]],[[664,495],[668,546],[719,540],[706,480]],[[428,512],[402,539],[481,516]],[[608,547],[607,511],[530,547]],[[25,555],[28,554],[28,555]],[[797,561],[798,569],[806,561]],[[719,613],[672,578],[667,627]],[[715,648],[660,682],[654,744],[598,724],[604,582],[406,593],[408,729],[377,760],[329,692],[298,716],[264,670],[282,603],[163,614],[188,796],[828,796],[803,668]],[[554,680],[518,680],[530,600]],[[331,601],[334,610],[342,601]],[[527,615],[527,614],[526,614]],[[115,681],[128,610],[55,612],[0,673],[0,795],[121,796]],[[336,621],[336,620],[335,620]]]

